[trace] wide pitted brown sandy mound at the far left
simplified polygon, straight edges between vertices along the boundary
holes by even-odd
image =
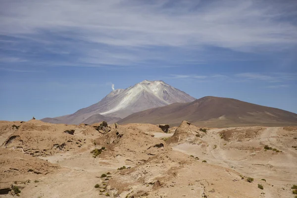
[[[47,156],[92,145],[90,139],[77,136],[80,131],[79,126],[75,125],[30,120],[9,136],[2,147],[19,148],[32,156]]]

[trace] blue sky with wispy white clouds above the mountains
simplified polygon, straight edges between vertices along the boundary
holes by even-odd
[[[296,0],[0,0],[0,120],[163,80],[297,113]]]

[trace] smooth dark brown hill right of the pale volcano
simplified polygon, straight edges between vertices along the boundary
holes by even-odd
[[[183,120],[208,127],[290,126],[297,125],[297,114],[237,99],[204,97],[193,102],[174,103],[140,111],[118,123],[166,123],[178,126]]]

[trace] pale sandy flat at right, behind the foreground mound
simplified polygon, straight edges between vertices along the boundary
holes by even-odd
[[[236,133],[229,141],[221,138],[221,131],[232,129],[236,129]],[[248,134],[248,130],[258,132]],[[297,182],[297,150],[292,148],[297,146],[296,137],[297,130],[286,131],[283,127],[213,129],[197,143],[186,142],[173,149],[207,160],[211,164],[230,167],[243,176],[266,179],[269,186],[274,185],[275,192],[271,197],[289,198],[293,197],[290,184]],[[265,145],[283,152],[265,151]]]

